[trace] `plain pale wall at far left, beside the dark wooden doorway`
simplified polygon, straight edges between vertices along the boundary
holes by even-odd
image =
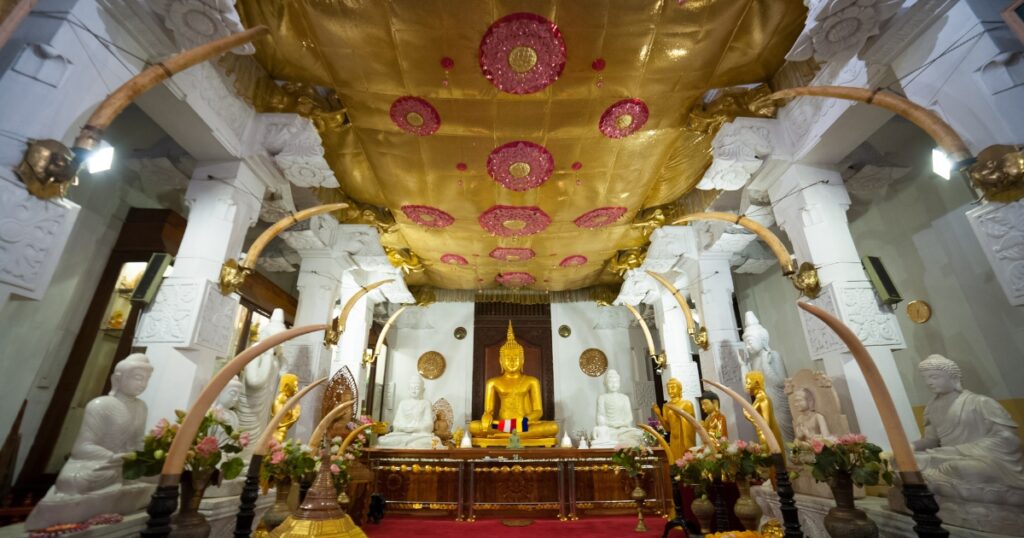
[[[0,365],[4,367],[0,439],[6,440],[22,403],[28,400],[15,472],[20,472],[32,447],[129,209],[130,187],[116,169],[95,176],[83,174],[81,179],[68,198],[82,210],[46,294],[41,300],[12,296],[0,311]],[[132,200],[138,202],[139,196],[133,192]]]

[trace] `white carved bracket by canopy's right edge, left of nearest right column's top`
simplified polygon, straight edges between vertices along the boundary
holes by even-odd
[[[737,191],[772,153],[769,123],[755,118],[736,118],[719,129],[712,141],[714,161],[697,189]]]

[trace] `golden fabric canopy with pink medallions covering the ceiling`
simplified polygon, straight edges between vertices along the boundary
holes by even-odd
[[[647,243],[638,212],[708,166],[714,132],[691,109],[767,80],[806,15],[801,0],[238,6],[271,29],[256,56],[271,77],[337,91],[349,123],[317,125],[326,157],[345,195],[393,213],[382,242],[426,267],[411,285],[485,289],[505,274],[551,291],[621,282],[606,265]]]

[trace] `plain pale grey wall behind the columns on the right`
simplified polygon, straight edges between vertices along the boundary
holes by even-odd
[[[866,198],[853,195],[848,216],[858,253],[880,257],[903,297],[894,312],[907,347],[894,356],[919,422],[932,395],[916,365],[940,354],[961,366],[965,388],[998,400],[1024,424],[1024,308],[1010,305],[968,224],[965,213],[974,206],[967,188],[932,174],[931,144],[900,121],[871,140],[912,148],[915,156],[911,172],[896,183]],[[735,277],[740,308],[758,312],[790,374],[813,367],[790,283],[773,271]],[[932,306],[924,324],[907,318],[914,299]]]

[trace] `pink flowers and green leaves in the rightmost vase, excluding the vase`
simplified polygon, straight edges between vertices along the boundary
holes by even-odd
[[[811,475],[818,482],[830,484],[845,473],[861,487],[882,482],[892,484],[892,468],[882,448],[868,443],[860,433],[797,441],[791,454],[795,462],[810,467]]]

